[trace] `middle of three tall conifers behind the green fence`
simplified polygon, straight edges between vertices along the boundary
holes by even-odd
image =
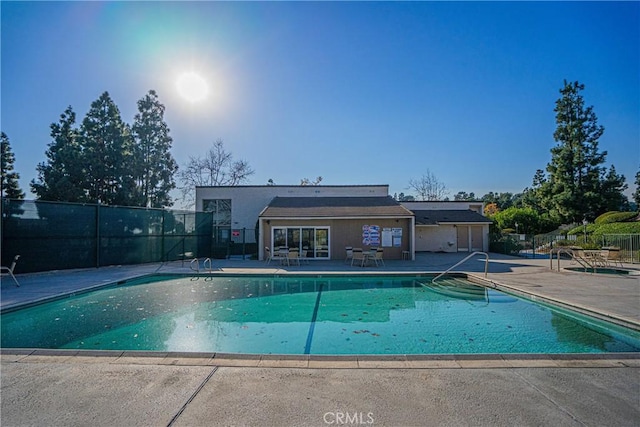
[[[89,201],[136,204],[133,138],[108,92],[91,104],[80,127]]]

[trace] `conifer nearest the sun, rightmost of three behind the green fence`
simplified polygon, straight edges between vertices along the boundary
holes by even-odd
[[[163,208],[172,206],[170,192],[176,187],[173,175],[178,165],[171,155],[173,139],[164,121],[165,107],[155,91],[138,101],[138,113],[131,132],[133,146],[136,204]]]

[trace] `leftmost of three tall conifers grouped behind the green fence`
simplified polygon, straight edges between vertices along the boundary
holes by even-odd
[[[31,181],[31,190],[40,200],[88,201],[82,187],[85,173],[75,122],[76,113],[69,106],[60,115],[60,121],[51,124],[52,141],[45,152],[47,162],[38,164],[38,179]]]

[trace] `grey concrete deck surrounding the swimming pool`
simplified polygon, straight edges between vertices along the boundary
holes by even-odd
[[[250,260],[223,273],[433,272],[466,254],[419,254],[385,267]],[[562,267],[570,266],[562,261]],[[625,265],[638,269],[638,265]],[[556,264],[554,262],[554,268]],[[3,278],[1,307],[153,273],[158,264]],[[171,263],[160,273],[189,272]],[[474,258],[456,271],[482,276]],[[490,254],[488,279],[640,326],[640,276],[551,271],[549,260]],[[393,357],[2,351],[3,426],[638,425],[640,355]]]

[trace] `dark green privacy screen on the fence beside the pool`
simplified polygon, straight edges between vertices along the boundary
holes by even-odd
[[[16,273],[214,256],[210,212],[2,200],[2,265]],[[224,251],[226,255],[226,251]]]

